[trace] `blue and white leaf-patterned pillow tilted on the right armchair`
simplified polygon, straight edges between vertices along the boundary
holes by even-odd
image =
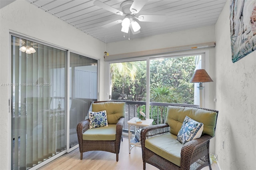
[[[182,127],[180,128],[180,131],[177,135],[177,140],[180,141],[182,144],[185,144],[186,142],[200,138],[202,135],[204,129],[204,124],[199,123],[190,117],[186,116]]]

